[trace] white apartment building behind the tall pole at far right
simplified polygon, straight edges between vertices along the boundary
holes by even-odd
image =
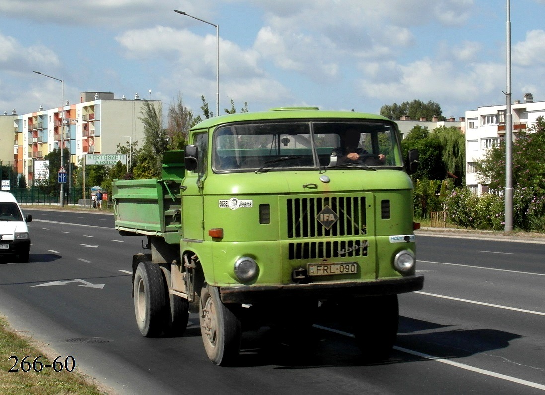
[[[465,112],[465,183],[476,194],[488,192],[488,186],[475,172],[475,164],[505,138],[506,109],[506,104],[500,104]],[[515,100],[511,109],[516,138],[516,133],[535,124],[538,116],[545,116],[545,101],[534,102],[534,97],[527,93],[522,102]]]

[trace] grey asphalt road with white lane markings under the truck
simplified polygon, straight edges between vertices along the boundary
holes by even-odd
[[[204,353],[198,317],[186,336],[140,335],[131,256],[112,215],[28,211],[31,262],[0,264],[0,312],[120,394],[495,393],[545,391],[545,244],[418,236],[421,292],[399,298],[391,358],[365,365],[341,327],[293,343],[245,334],[240,366]],[[354,320],[365,316],[354,306]],[[20,356],[21,358],[23,356]],[[14,373],[15,374],[15,373]]]

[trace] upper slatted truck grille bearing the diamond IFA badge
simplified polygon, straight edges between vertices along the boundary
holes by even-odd
[[[287,237],[366,234],[364,196],[287,199]]]

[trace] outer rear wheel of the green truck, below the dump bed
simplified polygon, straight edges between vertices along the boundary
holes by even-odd
[[[146,337],[158,337],[165,330],[169,309],[165,277],[157,264],[142,261],[135,271],[133,295],[136,325]]]

